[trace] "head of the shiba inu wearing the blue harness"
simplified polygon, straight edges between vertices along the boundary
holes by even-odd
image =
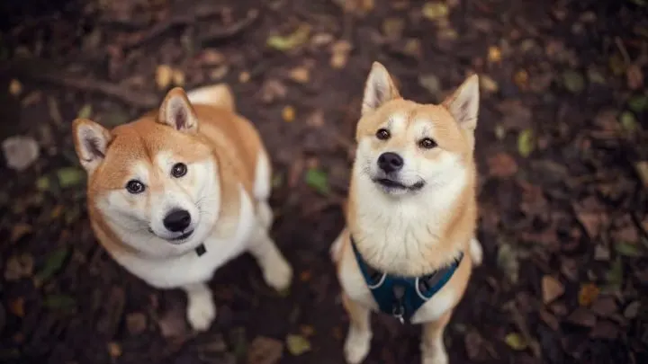
[[[473,168],[479,82],[470,76],[440,105],[405,100],[374,62],[356,129],[355,178],[390,196],[453,183]]]

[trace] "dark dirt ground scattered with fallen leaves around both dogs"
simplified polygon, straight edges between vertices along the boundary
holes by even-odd
[[[342,363],[348,319],[328,251],[378,60],[419,102],[482,77],[485,262],[446,330],[451,363],[648,362],[647,5],[3,4],[0,361]],[[217,271],[218,318],[195,334],[182,292],[149,288],[95,242],[70,122],[112,127],[174,85],[214,82],[271,151],[274,237],[295,280],[280,296],[240,257]],[[418,335],[374,316],[365,362],[418,362]]]

